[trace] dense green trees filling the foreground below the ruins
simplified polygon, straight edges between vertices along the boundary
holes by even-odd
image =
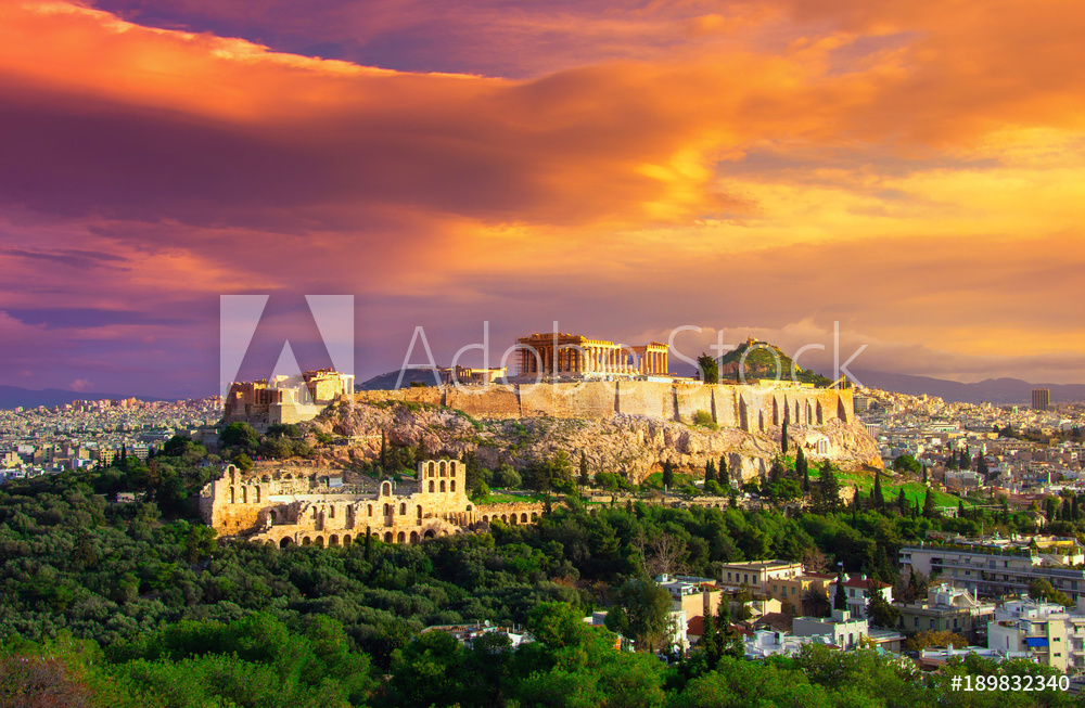
[[[565,481],[571,467],[532,474]],[[649,654],[616,652],[580,617],[609,606],[610,623],[649,646],[665,602],[646,575],[712,576],[723,562],[820,553],[894,582],[908,539],[991,529],[1001,524],[997,511],[941,519],[868,510],[853,522],[851,513],[588,507],[571,497],[537,525],[495,525],[493,535],[281,550],[217,543],[199,524],[165,520],[156,502],[95,494],[131,486],[135,469],[0,487],[3,681],[52,677],[49,685],[73,697],[65,705],[110,706],[698,706],[751,705],[751,696],[764,705],[995,705],[992,694],[954,694],[943,679],[906,675],[873,654],[746,664],[724,633],[710,638],[714,649],[668,669]],[[481,620],[527,625],[539,641],[513,651],[493,635],[464,648],[420,634]],[[1013,700],[1000,704],[1027,705]]]

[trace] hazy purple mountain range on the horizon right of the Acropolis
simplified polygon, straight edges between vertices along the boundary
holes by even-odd
[[[946,402],[1031,404],[1034,388],[1051,391],[1052,403],[1085,401],[1085,384],[1030,384],[1020,378],[987,378],[974,384],[960,384],[929,376],[890,374],[882,371],[853,371],[855,377],[871,388],[881,388],[909,396],[937,396]]]

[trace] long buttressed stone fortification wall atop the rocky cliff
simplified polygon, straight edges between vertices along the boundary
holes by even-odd
[[[723,427],[765,432],[783,424],[852,423],[850,389],[802,388],[649,381],[512,384],[465,387],[429,386],[361,391],[363,403],[405,401],[446,406],[476,417],[529,416],[608,419],[617,413],[691,422],[699,411]]]

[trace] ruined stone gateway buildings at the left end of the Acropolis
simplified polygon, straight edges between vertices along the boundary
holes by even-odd
[[[234,382],[226,397],[225,420],[243,421],[263,432],[269,425],[310,421],[337,398],[353,395],[354,376],[331,369],[270,382]]]

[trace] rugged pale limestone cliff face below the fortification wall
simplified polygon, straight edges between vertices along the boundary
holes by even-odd
[[[474,452],[490,469],[511,464],[520,469],[564,450],[571,461],[587,455],[592,473],[624,474],[633,482],[662,471],[664,461],[678,472],[701,477],[709,460],[727,456],[731,474],[743,480],[765,474],[780,452],[780,428],[746,433],[735,427],[703,426],[641,415],[616,414],[603,420],[533,416],[475,420],[436,404],[346,402],[306,423],[310,433],[332,433],[346,445],[318,447],[324,464],[357,464],[380,455],[381,434],[390,443],[414,446],[427,455],[459,458]],[[830,420],[824,425],[789,427],[791,449],[802,445],[812,464],[828,458],[850,469],[881,467],[876,441],[858,424]],[[315,438],[314,438],[315,440]]]

